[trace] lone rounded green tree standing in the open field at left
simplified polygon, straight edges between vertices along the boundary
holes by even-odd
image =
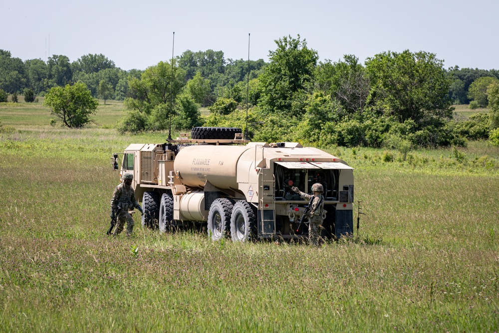
[[[52,124],[61,122],[63,126],[79,128],[92,121],[90,115],[95,114],[99,102],[84,83],[77,82],[51,88],[45,94],[43,105],[51,108],[50,114],[56,117]]]

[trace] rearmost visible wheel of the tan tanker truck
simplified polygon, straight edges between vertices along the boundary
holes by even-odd
[[[231,236],[233,242],[256,239],[257,219],[255,209],[246,200],[236,202],[232,210]]]

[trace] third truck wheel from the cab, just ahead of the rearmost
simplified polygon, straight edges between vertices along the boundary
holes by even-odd
[[[234,201],[216,199],[208,212],[208,233],[213,241],[220,241],[231,229],[231,215]]]

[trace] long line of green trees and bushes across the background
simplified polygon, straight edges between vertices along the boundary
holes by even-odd
[[[258,141],[407,150],[499,138],[497,70],[446,70],[435,54],[409,50],[381,52],[364,64],[355,55],[318,61],[317,51],[299,35],[275,42],[268,63],[187,50],[173,63],[161,61],[144,71],[123,71],[102,54],[72,63],[57,55],[47,63],[23,63],[2,50],[0,89],[11,93],[29,84],[28,89],[43,94],[51,87],[84,83],[94,97],[124,99],[127,112],[117,124],[122,133],[164,130],[170,124],[178,130],[245,128],[248,113],[249,135]],[[452,120],[452,104],[468,102],[491,112]],[[200,106],[210,114],[201,117]]]

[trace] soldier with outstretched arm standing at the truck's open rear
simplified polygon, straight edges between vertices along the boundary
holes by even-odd
[[[308,242],[310,245],[319,245],[319,234],[324,221],[324,197],[322,193],[324,188],[322,184],[316,183],[312,185],[313,195],[301,192],[297,187],[292,187],[291,190],[299,194],[302,199],[310,200],[312,197],[312,207],[310,208],[310,218],[308,225]]]

